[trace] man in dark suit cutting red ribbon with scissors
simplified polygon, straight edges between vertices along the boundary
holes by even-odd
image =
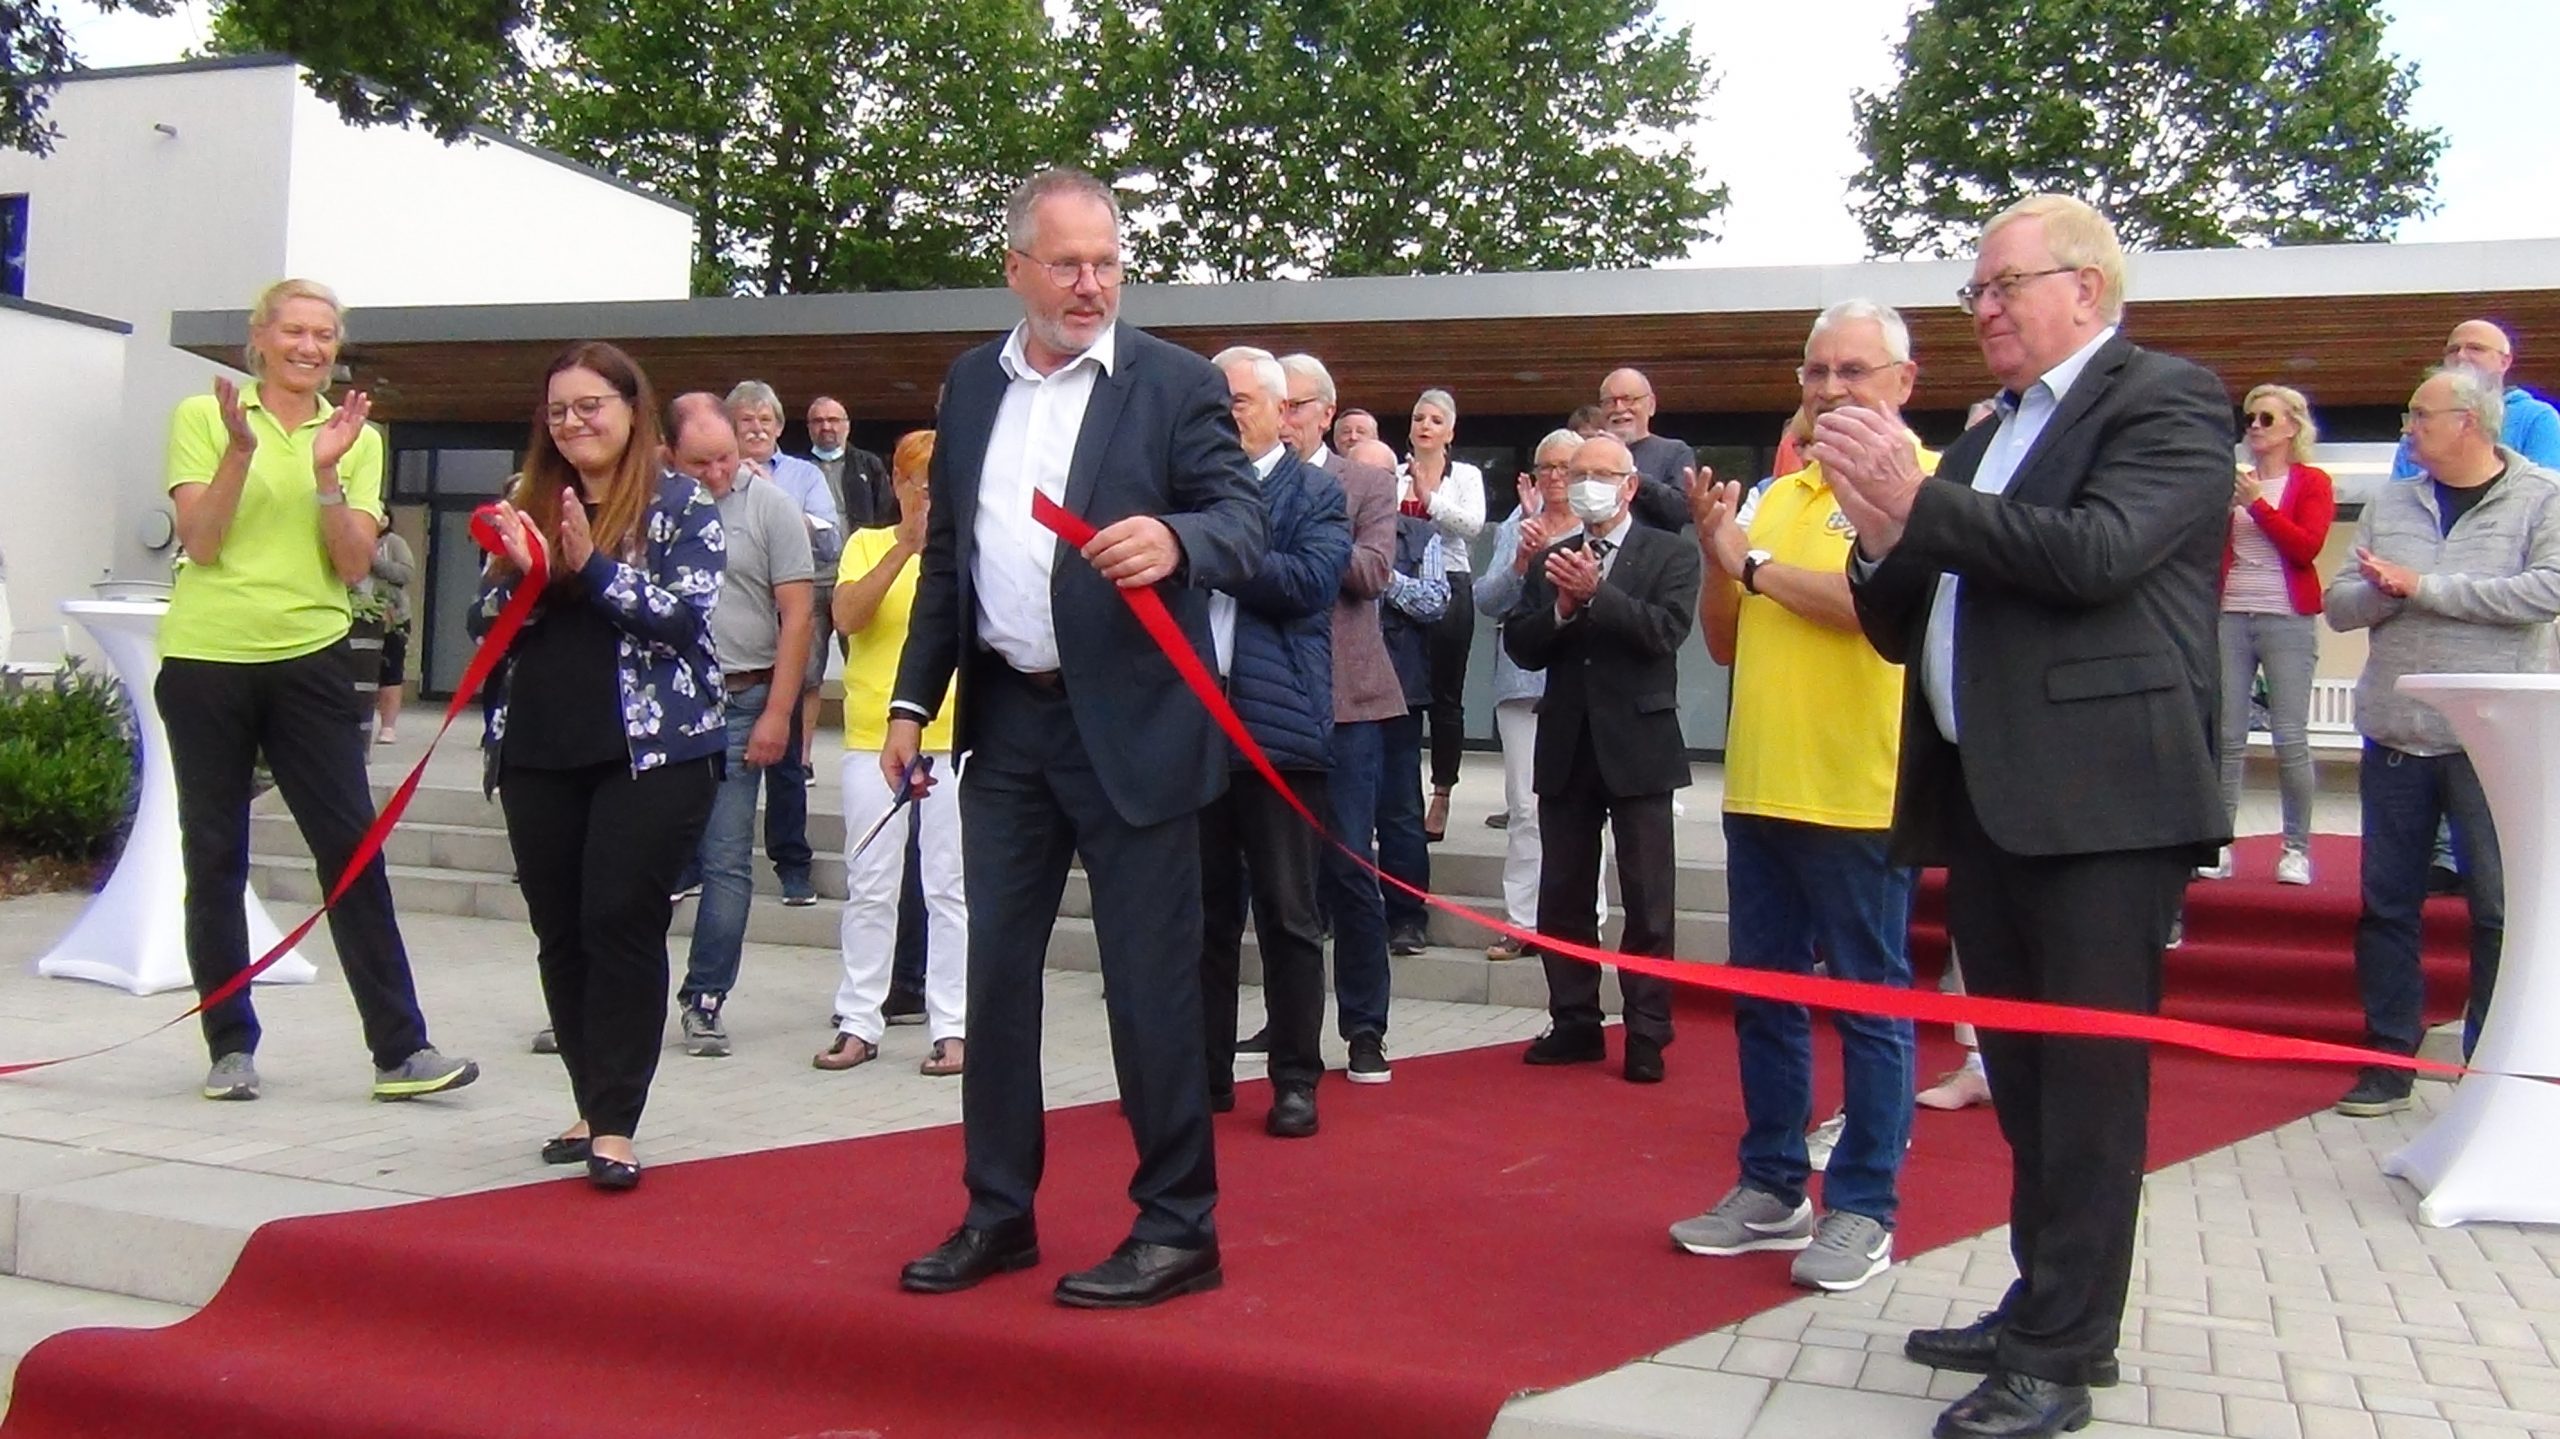
[[[1108,187],[1068,169],[1027,179],[1006,205],[1004,274],[1024,320],[945,382],[924,571],[881,750],[896,789],[957,676],[970,1206],[901,1285],[947,1293],[1039,1262],[1042,963],[1068,858],[1083,855],[1139,1152],[1137,1224],[1108,1260],[1062,1278],[1057,1301],[1134,1308],[1221,1280],[1198,812],[1226,789],[1226,743],[1119,589],[1162,586],[1208,653],[1208,591],[1254,574],[1265,520],[1226,379],[1119,323]],[[1083,558],[1032,517],[1034,497],[1098,525]]]

